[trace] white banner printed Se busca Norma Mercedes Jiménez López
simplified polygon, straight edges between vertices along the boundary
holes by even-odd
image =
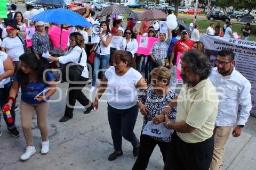
[[[236,70],[251,83],[252,109],[250,114],[256,117],[256,42],[206,34],[200,36],[200,41],[204,44],[206,54],[214,66],[218,51],[227,48],[235,53]]]

